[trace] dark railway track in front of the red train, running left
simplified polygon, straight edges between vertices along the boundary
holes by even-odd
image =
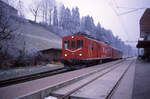
[[[3,80],[3,81],[0,81],[0,87],[23,83],[23,82],[27,82],[27,81],[31,81],[31,80],[35,80],[35,79],[40,79],[43,77],[53,76],[56,74],[67,72],[67,71],[68,70],[65,68],[60,68],[60,69],[56,69],[56,70],[50,70],[50,71],[40,72],[40,73],[36,73],[36,74],[32,74],[32,75]]]

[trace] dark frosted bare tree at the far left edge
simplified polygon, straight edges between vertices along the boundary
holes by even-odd
[[[8,9],[5,9],[0,12],[0,66],[6,67],[12,60],[11,55],[9,54],[10,43],[14,37],[14,32],[16,31],[15,25],[12,25],[11,14],[7,13]],[[8,11],[9,12],[9,11]],[[9,44],[8,44],[9,42]],[[0,67],[0,68],[1,68]]]

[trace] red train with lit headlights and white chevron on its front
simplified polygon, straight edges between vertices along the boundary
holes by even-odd
[[[120,59],[122,55],[121,51],[85,35],[66,36],[62,40],[62,59],[66,65]]]

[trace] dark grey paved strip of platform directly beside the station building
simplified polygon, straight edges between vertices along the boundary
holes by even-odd
[[[150,99],[150,62],[136,61],[132,99]]]

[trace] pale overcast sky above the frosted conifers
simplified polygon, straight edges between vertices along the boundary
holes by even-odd
[[[90,15],[95,23],[100,22],[106,29],[111,29],[114,35],[119,36],[123,41],[137,41],[139,39],[139,20],[145,9],[118,16],[118,14],[133,9],[129,8],[150,8],[150,0],[56,0],[62,2],[66,7],[79,7],[81,16]],[[24,0],[29,5],[29,0]],[[116,8],[119,7],[127,8]],[[132,44],[132,45],[135,45]]]

